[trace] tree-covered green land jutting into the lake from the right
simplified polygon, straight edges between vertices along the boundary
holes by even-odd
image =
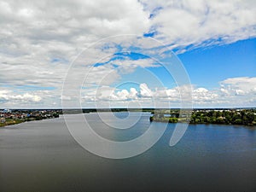
[[[179,110],[160,109],[154,112],[150,121],[188,122],[190,124],[256,125],[256,109],[195,109],[190,118]]]

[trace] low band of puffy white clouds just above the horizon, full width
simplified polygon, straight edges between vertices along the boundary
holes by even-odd
[[[193,87],[192,103],[195,108],[236,108],[252,107],[256,102],[256,78],[234,78],[225,79],[215,90],[207,90],[202,87]],[[109,105],[115,107],[128,107],[129,104],[137,107],[152,107],[154,102],[162,102],[161,108],[170,105],[172,108],[180,107],[179,89],[183,87],[148,88],[148,84],[139,84],[139,88],[131,87],[130,90],[120,90],[102,85],[96,89],[82,90],[81,106],[83,108],[95,108],[97,105],[102,108]],[[42,102],[42,100],[47,102]],[[62,98],[72,100],[72,98]],[[39,106],[44,108],[59,108],[61,105],[61,91],[33,90],[30,93],[16,93],[12,90],[0,90],[0,102],[6,107],[30,108]],[[169,104],[166,104],[169,103]],[[44,104],[44,105],[42,105]],[[45,105],[46,104],[46,105]]]

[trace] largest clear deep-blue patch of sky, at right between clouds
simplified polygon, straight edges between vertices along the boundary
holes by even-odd
[[[256,38],[193,49],[178,55],[192,84],[207,89],[224,79],[256,76]]]

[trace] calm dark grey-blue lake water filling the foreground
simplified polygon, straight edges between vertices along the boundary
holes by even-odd
[[[86,115],[96,132],[110,139],[137,137],[149,125],[145,114],[137,129],[119,130],[113,137],[96,114]],[[1,128],[0,191],[256,191],[256,131],[189,125],[182,140],[170,147],[173,129],[169,124],[143,154],[110,160],[81,148],[63,119]]]

